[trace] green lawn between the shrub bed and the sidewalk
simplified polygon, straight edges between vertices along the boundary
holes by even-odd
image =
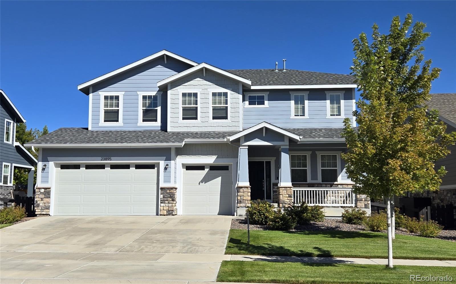
[[[456,259],[456,243],[396,234],[396,259]],[[373,232],[290,232],[231,229],[225,254],[292,255],[387,258],[386,233]]]

